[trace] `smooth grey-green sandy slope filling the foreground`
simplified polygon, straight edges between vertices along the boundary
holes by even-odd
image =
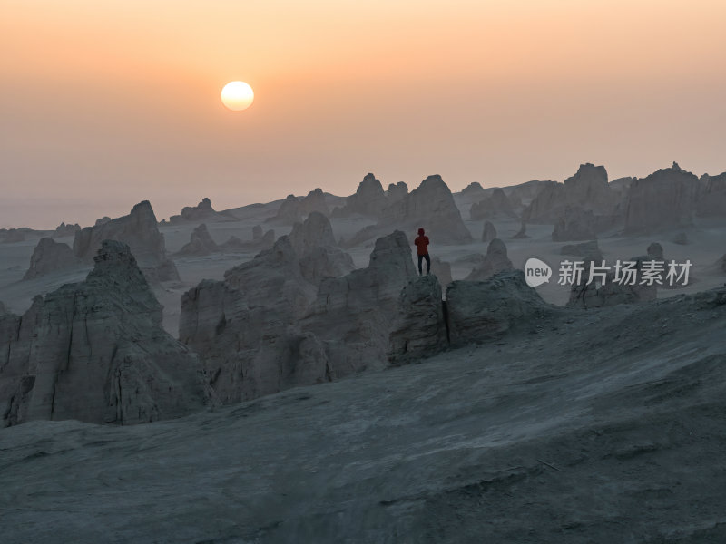
[[[136,427],[0,431],[3,542],[726,541],[726,289]]]

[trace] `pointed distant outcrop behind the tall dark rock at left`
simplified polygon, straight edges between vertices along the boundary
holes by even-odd
[[[76,232],[75,256],[90,262],[101,248],[103,240],[118,240],[128,244],[148,279],[179,280],[174,263],[166,257],[164,237],[159,232],[156,216],[148,200],[136,204],[127,216]]]

